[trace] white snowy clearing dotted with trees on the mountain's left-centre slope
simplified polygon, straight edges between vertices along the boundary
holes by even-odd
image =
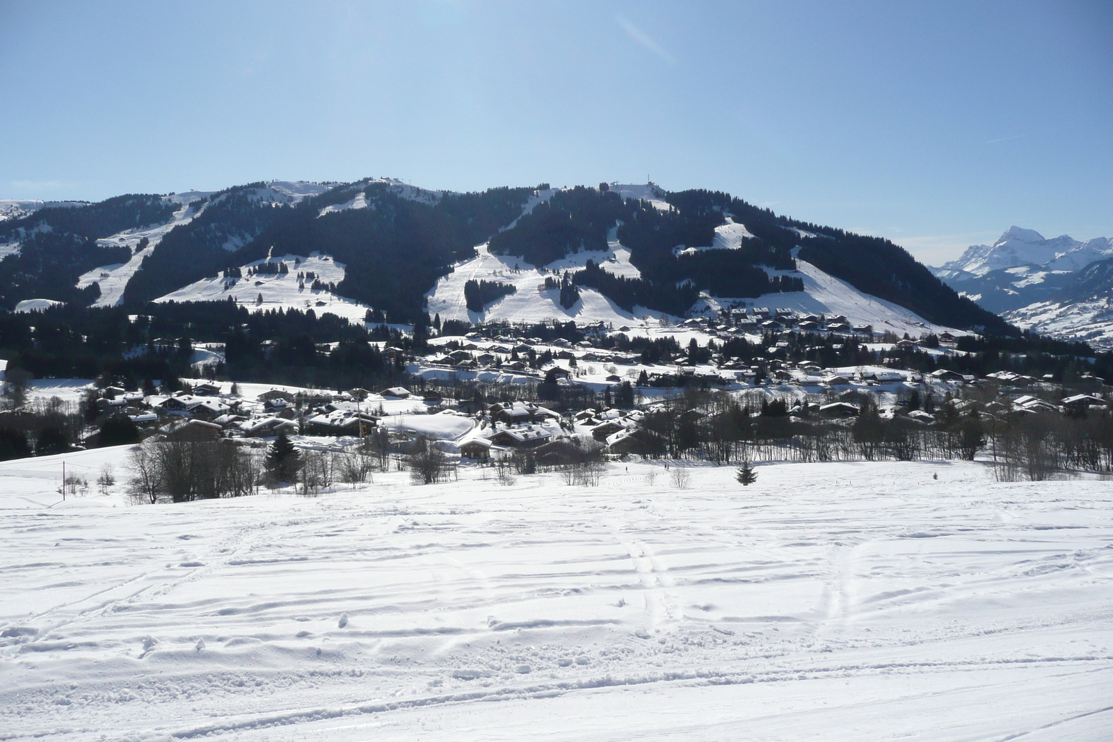
[[[285,263],[288,274],[248,276],[248,268],[255,268],[267,261]],[[298,265],[294,265],[299,260]],[[203,278],[184,288],[171,291],[155,299],[156,301],[226,301],[234,297],[236,301],[250,311],[270,309],[313,309],[317,315],[325,313],[343,317],[348,321],[362,325],[368,307],[355,299],[337,296],[327,289],[312,288],[313,281],[306,280],[298,288],[297,274],[313,273],[322,284],[338,284],[344,280],[345,264],[336,263],[332,257],[321,253],[304,255],[284,255],[263,260],[254,260],[240,266],[242,278]],[[259,295],[262,304],[257,303]]]

